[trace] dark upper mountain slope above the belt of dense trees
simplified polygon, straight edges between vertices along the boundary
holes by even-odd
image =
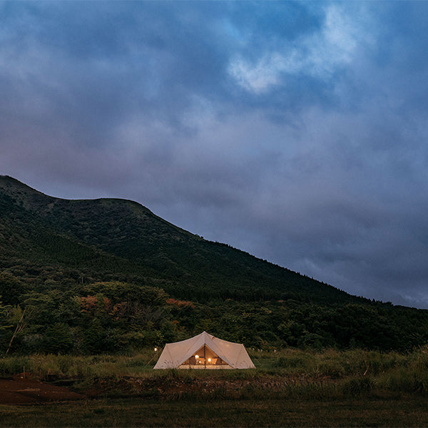
[[[65,200],[0,176],[0,269],[73,269],[94,280],[159,285],[192,300],[357,297],[176,227],[121,199]],[[76,276],[75,272],[75,276]]]

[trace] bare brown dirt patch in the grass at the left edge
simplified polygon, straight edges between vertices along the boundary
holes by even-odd
[[[26,374],[0,379],[0,404],[37,404],[83,399],[83,394],[57,387]]]

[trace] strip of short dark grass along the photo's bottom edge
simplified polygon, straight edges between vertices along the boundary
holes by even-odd
[[[402,399],[97,399],[0,406],[1,427],[427,427],[427,402]]]

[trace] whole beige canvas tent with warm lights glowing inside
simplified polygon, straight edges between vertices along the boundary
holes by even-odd
[[[207,332],[167,343],[155,369],[254,369],[244,345],[218,339]]]

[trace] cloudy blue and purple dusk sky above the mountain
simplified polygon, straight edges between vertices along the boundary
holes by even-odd
[[[0,1],[0,174],[428,308],[427,1]]]

